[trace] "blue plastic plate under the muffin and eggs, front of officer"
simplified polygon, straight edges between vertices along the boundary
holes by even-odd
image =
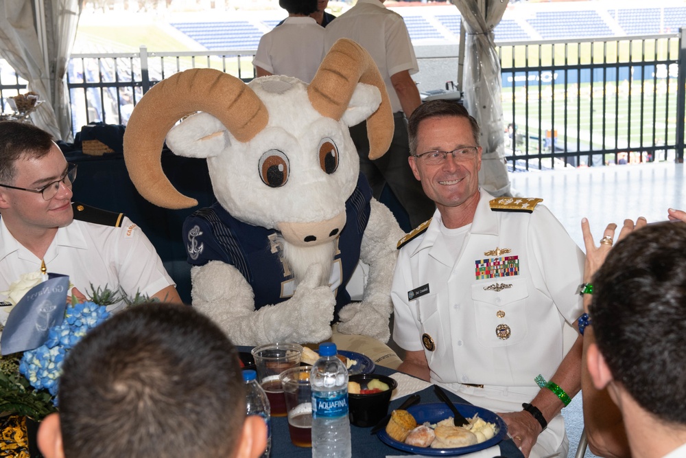
[[[464,455],[465,453],[477,452],[478,450],[483,450],[484,448],[492,447],[498,444],[501,440],[507,437],[508,426],[505,424],[503,419],[496,415],[495,413],[483,409],[482,407],[473,406],[471,404],[455,404],[458,411],[466,418],[471,418],[475,413],[479,414],[485,422],[495,423],[495,436],[491,437],[481,444],[475,444],[466,447],[458,448],[429,448],[429,447],[417,447],[403,442],[398,442],[392,439],[385,430],[379,431],[377,435],[381,442],[390,445],[398,450],[403,450],[404,452],[414,453],[415,455],[425,455],[429,457],[451,457],[456,455]],[[440,420],[445,420],[447,417],[452,417],[453,413],[448,409],[445,404],[437,402],[436,404],[419,404],[417,406],[412,406],[407,409],[408,412],[412,413],[412,416],[417,420],[417,424],[423,424],[424,422],[438,423]]]

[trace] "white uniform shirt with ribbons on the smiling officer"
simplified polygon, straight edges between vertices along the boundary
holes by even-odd
[[[546,207],[531,214],[492,211],[493,196],[480,192],[459,253],[447,249],[438,210],[425,233],[400,250],[393,339],[405,350],[424,350],[432,382],[486,409],[520,411],[540,390],[534,377],[549,380],[576,339],[571,323],[583,311],[577,290],[584,254]],[[497,249],[510,251],[484,254]],[[510,262],[512,275],[477,277],[479,266],[497,258]],[[418,293],[425,285],[428,292]],[[507,339],[497,336],[499,325]],[[564,437],[563,422],[561,431],[555,423],[548,428],[558,430],[553,448]]]

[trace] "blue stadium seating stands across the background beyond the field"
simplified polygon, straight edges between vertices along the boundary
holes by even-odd
[[[626,8],[624,5],[624,8],[611,8],[604,3],[578,4],[577,9],[531,9],[527,14],[508,10],[495,27],[495,41],[662,34],[677,32],[679,27],[686,25],[686,6]],[[431,8],[399,10],[403,10],[407,30],[415,45],[456,43],[459,40],[462,18],[457,8],[449,14],[445,9],[437,10],[436,14],[431,14]],[[207,49],[255,49],[261,36],[276,27],[279,21],[281,19],[171,25]]]

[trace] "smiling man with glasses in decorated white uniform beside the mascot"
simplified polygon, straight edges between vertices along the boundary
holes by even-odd
[[[399,369],[506,412],[525,456],[567,456],[558,414],[580,389],[584,254],[540,199],[480,189],[480,130],[462,105],[419,106],[409,133],[410,168],[437,209],[399,242]]]

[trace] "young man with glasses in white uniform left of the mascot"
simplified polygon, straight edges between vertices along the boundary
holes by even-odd
[[[45,131],[0,123],[0,291],[45,262],[48,272],[69,275],[81,299],[92,285],[181,302],[137,225],[123,214],[71,203],[76,170]]]

